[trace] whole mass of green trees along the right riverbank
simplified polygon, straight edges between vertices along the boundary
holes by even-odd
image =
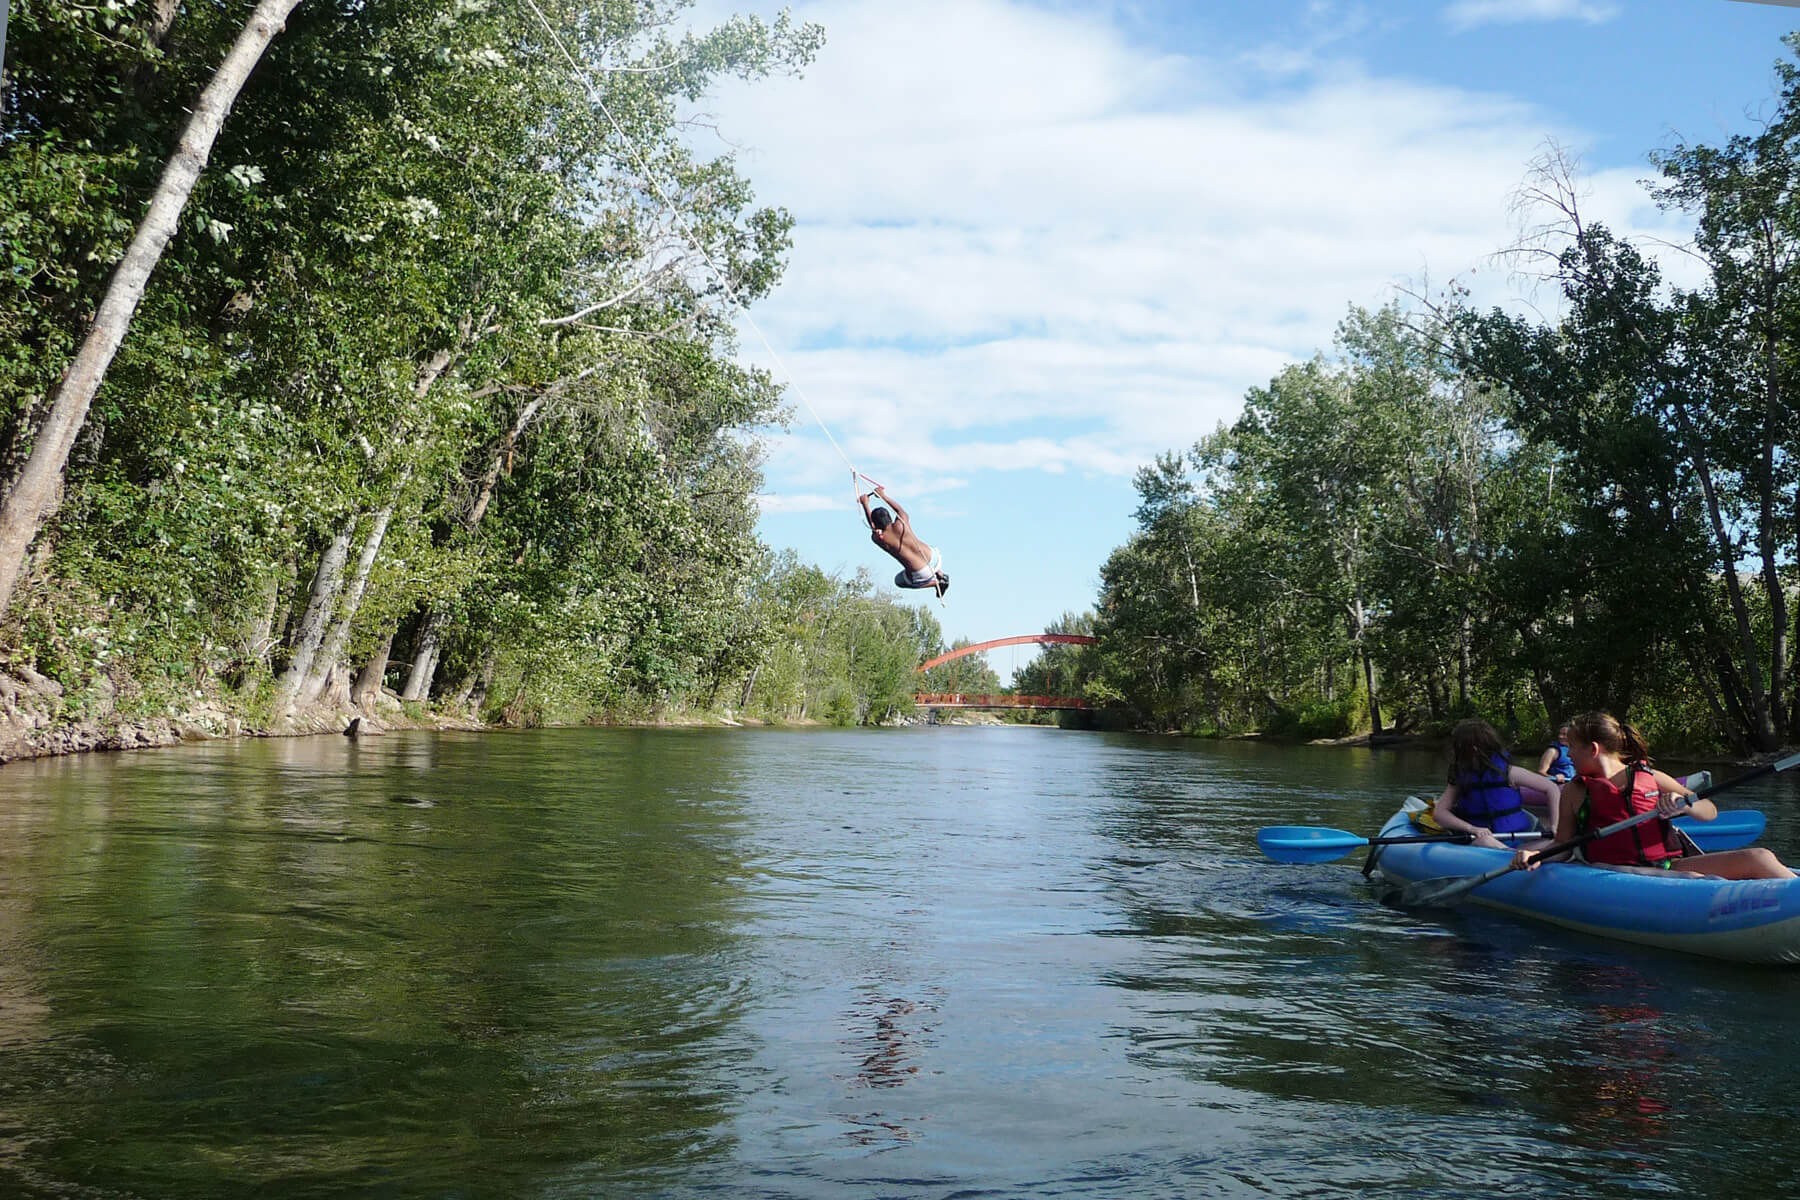
[[[1139,471],[1085,693],[1163,729],[1544,734],[1609,707],[1690,747],[1800,741],[1800,67],[1778,88],[1760,133],[1654,157],[1697,286],[1582,212],[1553,151],[1514,252],[1557,315],[1352,308],[1330,354]]]

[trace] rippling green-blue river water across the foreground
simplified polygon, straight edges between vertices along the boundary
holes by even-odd
[[[1431,756],[1048,729],[0,774],[0,1195],[1795,1195],[1800,972],[1379,905]],[[1746,786],[1800,851],[1782,779]]]

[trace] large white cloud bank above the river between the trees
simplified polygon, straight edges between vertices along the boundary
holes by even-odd
[[[1478,266],[1478,299],[1501,302],[1490,255],[1553,131],[1508,97],[1354,65],[1274,79],[1143,49],[1103,13],[797,16],[828,31],[806,77],[716,101],[760,200],[797,218],[787,277],[754,311],[805,399],[769,462],[770,511],[828,504],[846,473],[806,405],[895,486],[1129,477],[1327,347],[1352,302]],[[1589,216],[1649,221],[1638,175],[1595,176]]]

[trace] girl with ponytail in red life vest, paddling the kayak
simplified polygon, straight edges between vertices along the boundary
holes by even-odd
[[[1760,846],[1683,856],[1669,817],[1687,808],[1688,801],[1692,808],[1687,808],[1687,815],[1696,820],[1712,820],[1719,810],[1712,801],[1694,799],[1694,792],[1681,781],[1652,768],[1643,734],[1611,712],[1586,712],[1570,723],[1570,757],[1575,761],[1575,779],[1562,784],[1559,842],[1625,817],[1651,810],[1660,813],[1656,820],[1588,842],[1582,849],[1588,862],[1681,869],[1721,880],[1795,878],[1780,858]],[[1534,853],[1521,851],[1519,865],[1537,867]]]

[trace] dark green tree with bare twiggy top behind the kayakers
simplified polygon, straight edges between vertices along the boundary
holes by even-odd
[[[1561,581],[1550,596],[1568,597],[1546,649],[1568,664],[1568,707],[1625,711],[1685,675],[1733,741],[1773,747],[1768,604],[1746,590],[1737,549],[1760,507],[1746,486],[1757,439],[1741,437],[1733,403],[1742,358],[1710,297],[1663,299],[1652,263],[1580,218],[1564,167],[1541,178],[1568,237],[1552,259],[1568,315],[1534,326],[1496,311],[1463,329],[1521,432],[1561,452],[1568,527],[1539,547],[1544,579]],[[1760,583],[1764,599],[1780,588],[1778,570]],[[1622,628],[1633,655],[1618,653]]]

